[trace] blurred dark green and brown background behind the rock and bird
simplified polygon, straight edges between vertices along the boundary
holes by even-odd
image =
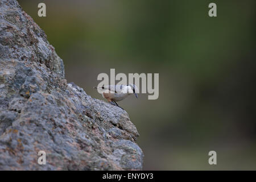
[[[68,82],[90,96],[104,100],[92,87],[110,68],[159,73],[158,100],[119,102],[139,131],[144,169],[256,169],[255,0],[19,3],[63,59]]]

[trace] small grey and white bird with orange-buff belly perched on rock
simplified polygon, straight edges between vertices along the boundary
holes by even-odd
[[[106,98],[110,104],[120,107],[117,101],[124,100],[130,94],[134,94],[138,98],[138,88],[134,84],[129,85],[106,85],[102,87],[94,87],[95,89],[102,89],[102,97]],[[123,109],[122,107],[120,107]]]

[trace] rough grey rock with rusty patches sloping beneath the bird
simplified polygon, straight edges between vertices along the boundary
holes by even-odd
[[[142,169],[138,136],[126,111],[67,84],[43,30],[0,1],[0,170]]]

